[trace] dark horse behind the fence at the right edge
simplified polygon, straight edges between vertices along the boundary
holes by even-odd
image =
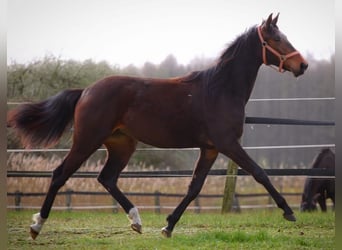
[[[329,148],[323,149],[315,158],[312,168],[335,168],[335,154]],[[327,211],[326,199],[335,205],[335,179],[307,178],[304,184],[301,211],[317,210],[316,203],[322,212]]]

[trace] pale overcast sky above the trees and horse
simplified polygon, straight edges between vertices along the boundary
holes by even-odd
[[[333,0],[11,0],[7,59],[62,59],[141,66],[217,57],[246,29],[280,12],[278,26],[304,55],[335,52]]]

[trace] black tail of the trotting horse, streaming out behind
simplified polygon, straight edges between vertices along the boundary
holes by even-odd
[[[20,105],[7,114],[7,126],[16,129],[26,148],[57,143],[74,117],[82,89],[64,90],[49,99]]]

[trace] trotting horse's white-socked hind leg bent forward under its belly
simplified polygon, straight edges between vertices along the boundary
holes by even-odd
[[[108,158],[98,176],[98,181],[106,188],[115,200],[123,207],[131,221],[131,228],[141,233],[142,223],[136,207],[127,199],[117,186],[121,171],[127,165],[136,148],[136,140],[120,131],[116,131],[105,141]]]

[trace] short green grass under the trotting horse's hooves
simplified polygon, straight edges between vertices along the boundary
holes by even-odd
[[[34,211],[36,212],[36,211]],[[172,238],[160,229],[166,215],[142,212],[143,234],[123,213],[53,211],[32,240],[33,211],[8,211],[8,249],[335,249],[335,213],[299,213],[284,220],[280,210],[240,214],[185,213]]]

